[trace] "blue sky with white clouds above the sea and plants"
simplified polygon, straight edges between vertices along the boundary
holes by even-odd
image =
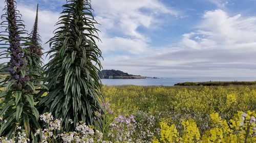
[[[46,43],[66,1],[16,2],[28,31],[39,3],[39,34]],[[256,77],[255,5],[256,0],[92,0],[101,24],[96,27],[103,69],[151,77]],[[49,44],[43,47],[49,50]]]

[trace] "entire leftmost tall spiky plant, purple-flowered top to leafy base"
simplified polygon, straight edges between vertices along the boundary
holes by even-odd
[[[25,25],[21,20],[19,11],[16,10],[16,2],[14,0],[6,0],[5,14],[2,19],[1,27],[5,27],[6,31],[1,33],[0,42],[3,54],[10,61],[5,65],[5,69],[9,70],[9,74],[0,83],[0,88],[5,90],[0,92],[0,98],[5,100],[0,103],[0,117],[7,122],[1,125],[0,135],[12,138],[16,135],[16,126],[25,129],[27,136],[34,138],[33,133],[40,126],[38,124],[38,111],[34,107],[33,92],[34,84],[30,81],[27,68],[27,60],[24,56],[25,46],[27,46],[27,38],[21,35],[27,35],[24,30]],[[36,140],[33,140],[36,142]]]

